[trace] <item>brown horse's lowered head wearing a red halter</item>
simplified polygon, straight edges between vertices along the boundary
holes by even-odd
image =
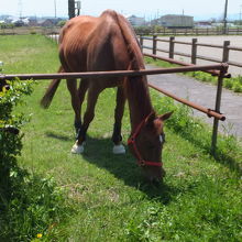
[[[162,150],[165,142],[164,121],[173,112],[163,116],[150,113],[130,136],[128,144],[131,153],[138,158],[150,182],[160,182],[165,176],[162,163]]]

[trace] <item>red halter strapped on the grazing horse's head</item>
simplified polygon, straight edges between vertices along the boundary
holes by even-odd
[[[144,161],[141,156],[141,153],[139,152],[138,150],[138,146],[136,146],[136,143],[135,143],[135,139],[136,136],[139,135],[142,127],[144,125],[145,123],[145,120],[151,116],[153,114],[154,112],[151,112],[144,120],[141,121],[141,123],[138,125],[138,128],[135,129],[134,133],[130,136],[130,139],[128,140],[128,145],[132,144],[133,145],[133,150],[134,150],[134,153],[136,155],[136,158],[138,158],[138,164],[140,166],[162,166],[162,162],[158,163],[158,162],[148,162],[148,161]]]

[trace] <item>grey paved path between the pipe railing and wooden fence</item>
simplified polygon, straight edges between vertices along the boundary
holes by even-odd
[[[146,68],[150,69],[157,67],[147,65]],[[180,98],[189,99],[205,108],[215,109],[216,86],[204,84],[194,78],[176,74],[152,75],[148,76],[148,82],[168,90]],[[242,95],[237,95],[230,90],[223,89],[221,112],[224,113],[227,120],[220,122],[219,130],[242,138]],[[207,118],[202,112],[195,110],[194,114],[202,118],[208,123],[212,123],[213,119]]]

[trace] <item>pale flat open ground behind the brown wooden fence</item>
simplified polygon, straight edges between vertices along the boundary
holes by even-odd
[[[163,40],[168,40],[168,37],[161,37]],[[230,41],[230,45],[242,47],[242,36],[241,35],[219,35],[219,36],[175,36],[176,41],[185,41],[191,43],[193,38],[197,38],[198,43],[206,43],[206,44],[217,44],[217,45],[223,45],[224,41]],[[151,41],[144,41],[144,45],[151,46]],[[158,48],[168,50],[168,43],[165,42],[157,42]],[[191,46],[190,45],[184,45],[184,44],[175,44],[175,52],[183,52],[190,54]],[[151,53],[148,50],[144,50],[144,53]],[[205,47],[205,46],[198,46],[197,50],[198,55],[207,56],[207,57],[213,57],[222,59],[222,50],[221,48],[211,48],[211,47]],[[157,55],[168,57],[167,53],[158,52]],[[187,63],[190,63],[190,58],[183,57],[175,55],[175,59],[184,61]],[[230,51],[229,59],[231,62],[238,62],[242,63],[242,52],[238,51]],[[197,59],[198,65],[209,65],[215,64],[208,61]],[[232,76],[242,75],[242,68],[230,66],[229,73],[232,74]]]

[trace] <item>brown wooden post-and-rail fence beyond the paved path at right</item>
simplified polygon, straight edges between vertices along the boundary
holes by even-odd
[[[150,41],[151,45],[150,46],[144,45],[144,40]],[[168,43],[168,48],[166,50],[158,48],[157,47],[158,42]],[[163,38],[157,37],[157,35],[153,35],[153,36],[140,35],[140,43],[141,43],[142,50],[151,50],[153,55],[156,55],[157,52],[163,52],[163,53],[167,53],[169,58],[174,58],[175,55],[185,56],[185,57],[189,57],[190,63],[195,65],[197,64],[197,59],[205,59],[205,61],[215,62],[215,63],[228,63],[231,66],[242,67],[242,63],[229,61],[230,51],[242,52],[242,47],[230,45],[230,41],[224,41],[223,45],[215,45],[215,44],[199,43],[197,38],[193,38],[191,42],[184,42],[184,41],[176,41],[174,36],[170,36],[169,40],[163,40]],[[183,44],[183,45],[190,46],[190,54],[175,52],[175,44]],[[221,48],[222,50],[221,59],[198,55],[197,54],[198,46]]]

